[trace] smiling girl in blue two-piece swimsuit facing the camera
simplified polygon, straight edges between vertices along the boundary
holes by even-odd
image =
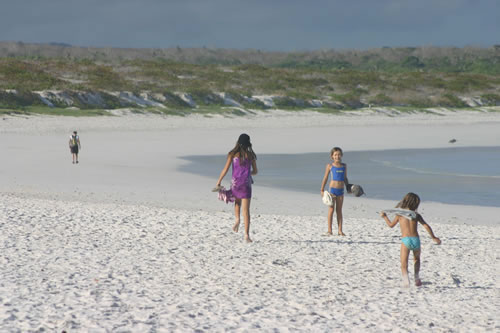
[[[342,163],[343,152],[339,147],[334,147],[330,151],[330,158],[333,163],[328,163],[325,168],[325,175],[323,176],[323,181],[321,182],[321,196],[324,195],[325,185],[328,180],[328,176],[331,176],[328,192],[332,197],[332,205],[328,208],[328,232],[327,236],[333,235],[332,224],[333,224],[333,213],[337,213],[337,225],[339,236],[345,236],[342,231],[343,216],[342,216],[342,206],[344,204],[344,186],[347,187],[348,192],[350,187],[347,186],[349,181],[347,180],[347,164]]]

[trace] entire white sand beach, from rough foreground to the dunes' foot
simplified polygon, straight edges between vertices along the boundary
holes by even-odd
[[[179,171],[242,132],[257,156],[499,146],[499,111],[3,116],[0,331],[499,331],[500,204],[422,198],[442,244],[420,230],[423,286],[403,288],[399,230],[377,214],[396,202],[346,196],[347,236],[324,237],[319,191],[257,175],[247,244],[210,191],[218,174]]]

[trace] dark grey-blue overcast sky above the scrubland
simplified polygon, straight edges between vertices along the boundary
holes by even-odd
[[[300,51],[500,44],[500,0],[0,0],[0,41]]]

